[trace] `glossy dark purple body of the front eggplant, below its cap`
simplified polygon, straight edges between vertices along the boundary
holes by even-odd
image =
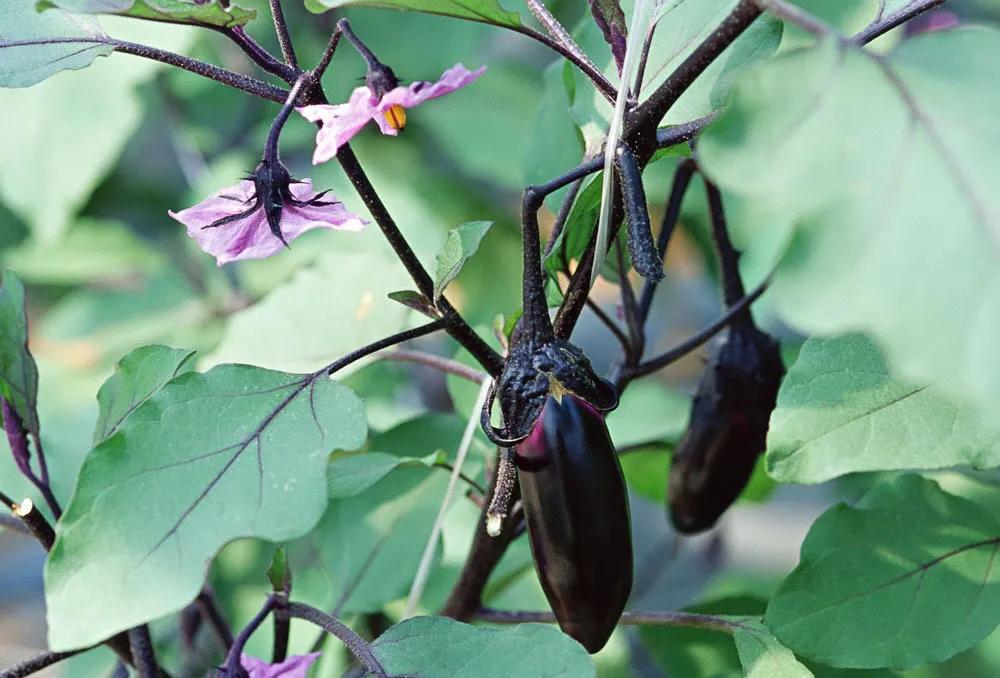
[[[559,627],[604,647],[632,590],[628,494],[603,415],[549,396],[515,448],[531,554]]]

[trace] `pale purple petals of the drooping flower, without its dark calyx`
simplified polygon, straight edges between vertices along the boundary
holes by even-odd
[[[206,228],[219,219],[249,209],[253,204],[250,199],[253,190],[252,182],[242,181],[194,207],[169,214],[187,227],[188,235],[195,239],[202,250],[214,256],[219,266],[240,259],[265,259],[280,252],[284,245],[271,233],[263,209],[258,207],[242,219]],[[303,202],[316,197],[312,182],[308,179],[291,184],[291,192],[297,200]],[[322,200],[335,202],[336,198],[327,193]],[[286,204],[281,213],[281,232],[288,242],[314,228],[356,231],[364,224],[363,220],[348,212],[339,202],[307,207]]]

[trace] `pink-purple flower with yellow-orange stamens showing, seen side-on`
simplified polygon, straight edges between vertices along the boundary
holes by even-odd
[[[470,71],[462,64],[449,68],[435,82],[415,82],[409,87],[397,85],[379,96],[377,88],[369,84],[358,87],[346,104],[303,106],[298,109],[309,122],[323,123],[316,135],[316,152],[313,164],[326,162],[337,154],[340,147],[361,131],[369,120],[378,124],[382,134],[396,136],[406,127],[406,109],[430,99],[444,96],[465,87],[486,70]]]

